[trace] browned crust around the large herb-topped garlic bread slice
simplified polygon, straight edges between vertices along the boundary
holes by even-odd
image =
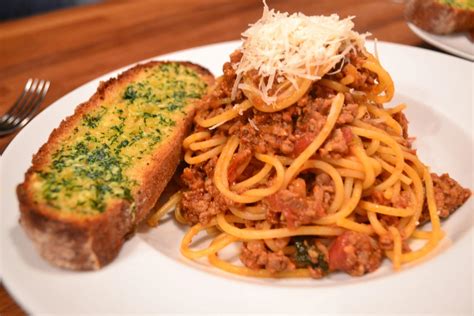
[[[125,200],[107,205],[106,210],[98,215],[64,215],[46,205],[35,204],[30,190],[32,175],[50,162],[53,151],[84,114],[99,106],[110,91],[130,82],[143,69],[160,63],[166,62],[139,64],[117,78],[101,82],[97,92],[87,102],[79,105],[73,115],[64,119],[33,156],[32,166],[25,174],[25,181],[17,187],[20,224],[40,254],[52,264],[67,269],[94,270],[112,261],[127,235],[148,215],[171,179],[180,160],[182,140],[192,124],[194,105],[187,111],[183,121],[176,124],[172,135],[160,144],[150,157],[151,162],[143,172],[147,176],[134,194],[133,216],[132,205]],[[214,78],[205,68],[189,62],[180,64],[196,71],[209,86],[212,84]]]

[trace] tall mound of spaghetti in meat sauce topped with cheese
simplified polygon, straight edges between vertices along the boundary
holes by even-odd
[[[273,30],[288,19],[300,23],[300,33],[320,30],[308,25],[311,17],[279,14],[267,10],[253,31]],[[348,23],[336,22],[340,28]],[[320,278],[335,270],[362,275],[376,270],[384,256],[400,269],[432,251],[444,235],[435,193],[443,193],[442,177],[430,174],[411,148],[406,105],[384,106],[394,84],[361,45],[363,37],[350,28],[306,34],[304,40],[320,45],[313,50],[329,55],[308,56],[303,65],[298,52],[285,51],[281,68],[269,72],[270,61],[249,59],[258,58],[251,31],[184,140],[189,166],[182,191],[150,223],[176,205],[177,219],[192,225],[181,244],[185,257],[207,257],[219,269],[256,277]],[[338,46],[325,42],[329,35]],[[244,62],[267,68],[241,71]],[[290,62],[299,65],[293,72]],[[448,215],[470,196],[449,181],[459,196]],[[431,231],[418,229],[426,222]],[[206,230],[218,234],[207,248],[191,249]],[[425,244],[411,250],[412,239]],[[219,258],[232,244],[240,245],[243,266]]]

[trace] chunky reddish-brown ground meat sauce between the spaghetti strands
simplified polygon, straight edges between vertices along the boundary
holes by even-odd
[[[201,111],[204,118],[213,117],[223,111],[217,100],[230,98],[236,78],[232,63],[240,57],[240,53],[235,52],[231,55],[231,62],[224,65],[221,84],[214,94],[204,101],[204,110]],[[361,60],[357,56],[351,54],[349,60],[349,65],[360,68]],[[342,72],[333,75],[333,79],[340,79],[346,72],[347,67],[344,67]],[[352,87],[359,90],[368,89],[374,84],[374,80],[373,74],[362,71],[360,76],[355,78]],[[282,111],[263,113],[252,108],[220,126],[217,133],[225,136],[237,135],[241,142],[239,151],[234,155],[228,169],[229,182],[236,183],[261,168],[261,163],[252,159],[254,153],[297,157],[326,123],[334,95],[334,91],[316,83],[296,104]],[[235,103],[242,102],[243,99],[243,94],[238,90]],[[333,132],[315,153],[314,158],[343,158],[349,155],[350,143],[354,136],[347,124],[354,121],[358,108],[359,105],[352,95],[347,93]],[[393,115],[393,118],[403,129],[406,139],[404,145],[410,148],[406,117],[400,112]],[[387,128],[385,125],[380,127]],[[197,127],[197,130],[200,128]],[[212,183],[215,164],[216,158],[210,159],[186,168],[182,175],[185,185],[182,210],[185,218],[192,224],[205,225],[213,216],[233,206],[233,202],[226,199]],[[433,174],[433,183],[436,204],[442,218],[449,216],[470,196],[469,190],[463,189],[447,174]],[[263,184],[265,185],[268,184]],[[326,173],[302,172],[286,189],[263,199],[259,205],[265,208],[265,221],[272,228],[295,229],[326,216],[334,199],[334,192],[334,183]],[[410,196],[404,193],[392,201],[377,191],[374,191],[369,199],[382,205],[401,208],[407,207],[410,202]],[[356,216],[358,222],[369,223],[364,214]],[[425,210],[422,220],[428,219],[429,215]],[[387,225],[398,224],[396,217],[382,215],[380,220]],[[393,249],[393,241],[389,235],[372,237],[354,231],[346,231],[332,239],[298,237],[285,242],[296,249],[296,252],[285,254],[282,250],[272,251],[259,240],[243,242],[240,260],[251,269],[267,269],[272,273],[303,267],[308,268],[314,278],[338,270],[351,276],[360,276],[376,270],[383,260],[383,251]],[[403,248],[404,251],[410,251],[406,242]]]

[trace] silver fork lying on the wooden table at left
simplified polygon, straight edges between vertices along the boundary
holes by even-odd
[[[0,117],[0,136],[10,134],[28,124],[38,111],[49,85],[48,80],[28,79],[13,106]]]

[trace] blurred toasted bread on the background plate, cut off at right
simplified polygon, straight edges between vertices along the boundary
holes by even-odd
[[[465,32],[474,28],[474,10],[458,9],[436,0],[408,0],[408,21],[435,34]]]

